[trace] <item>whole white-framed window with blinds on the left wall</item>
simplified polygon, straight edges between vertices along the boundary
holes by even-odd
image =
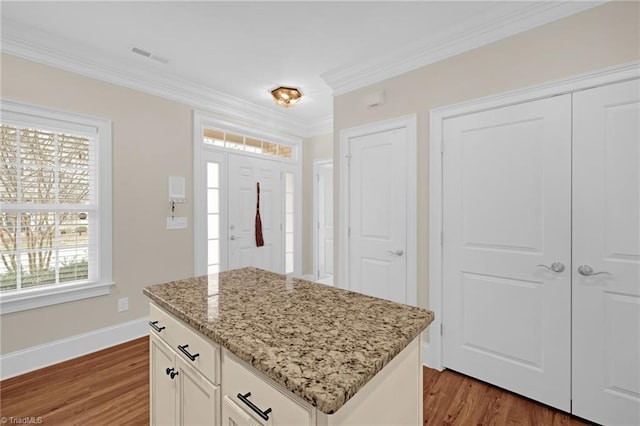
[[[110,123],[3,102],[0,147],[2,313],[107,294]]]

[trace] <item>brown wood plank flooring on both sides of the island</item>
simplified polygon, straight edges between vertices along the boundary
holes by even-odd
[[[452,371],[423,374],[425,425],[589,424]],[[149,339],[0,382],[0,416],[40,417],[44,426],[148,425]]]

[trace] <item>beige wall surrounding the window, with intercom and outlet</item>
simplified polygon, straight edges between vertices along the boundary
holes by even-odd
[[[191,108],[9,55],[2,98],[112,120],[115,286],[108,296],[2,315],[1,352],[147,316],[143,287],[193,272],[191,204],[176,206],[189,229],[165,229],[167,177],[185,176],[193,199]],[[119,297],[129,311],[117,312]]]

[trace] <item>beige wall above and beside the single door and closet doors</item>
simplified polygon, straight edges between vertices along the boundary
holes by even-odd
[[[418,114],[418,300],[428,303],[429,111],[640,59],[640,3],[612,2],[334,99],[336,241],[340,131]],[[383,89],[385,103],[365,108]],[[335,253],[338,266],[340,254]],[[338,271],[336,271],[336,277]]]

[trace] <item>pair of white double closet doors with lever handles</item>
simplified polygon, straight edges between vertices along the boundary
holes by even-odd
[[[640,424],[637,80],[448,119],[444,366]]]

